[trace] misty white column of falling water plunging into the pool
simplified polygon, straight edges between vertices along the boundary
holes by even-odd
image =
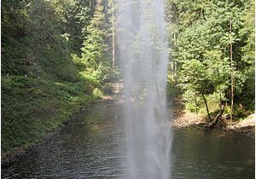
[[[170,178],[166,123],[167,41],[163,0],[117,0],[124,81],[127,178]]]

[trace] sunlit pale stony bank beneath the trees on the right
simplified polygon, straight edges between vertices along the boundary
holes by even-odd
[[[196,127],[204,130],[207,124],[207,117],[201,114],[189,113],[180,104],[172,109],[172,126],[175,128]],[[255,113],[249,115],[247,118],[230,122],[228,119],[221,118],[218,120],[215,128],[227,132],[236,132],[241,136],[250,136],[255,138]]]

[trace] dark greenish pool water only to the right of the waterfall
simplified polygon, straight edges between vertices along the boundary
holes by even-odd
[[[254,140],[221,132],[177,130],[172,145],[173,177],[254,178]]]

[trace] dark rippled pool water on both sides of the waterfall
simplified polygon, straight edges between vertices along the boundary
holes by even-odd
[[[2,178],[124,178],[119,103],[79,113],[71,124],[17,161]],[[173,130],[172,178],[254,178],[254,140],[222,131]]]

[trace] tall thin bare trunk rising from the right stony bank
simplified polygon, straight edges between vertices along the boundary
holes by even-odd
[[[234,108],[234,74],[233,74],[233,49],[232,49],[232,20],[230,20],[230,66],[231,66],[231,104],[230,104],[230,122],[233,120]]]

